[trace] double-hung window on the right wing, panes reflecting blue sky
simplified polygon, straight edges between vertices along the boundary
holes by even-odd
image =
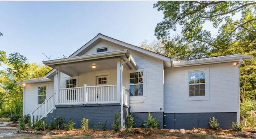
[[[205,96],[205,70],[189,72],[189,96]]]

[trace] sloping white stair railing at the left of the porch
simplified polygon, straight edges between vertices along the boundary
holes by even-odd
[[[52,94],[39,107],[30,113],[31,123],[42,119],[55,108],[55,94],[56,93]]]

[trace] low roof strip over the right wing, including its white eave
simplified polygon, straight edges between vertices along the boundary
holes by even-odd
[[[214,63],[223,63],[223,62],[235,62],[242,60],[250,60],[252,59],[252,55],[241,55],[241,54],[233,54],[233,55],[224,55],[224,56],[213,56],[206,58],[196,58],[196,59],[188,59],[188,60],[178,60],[174,61],[172,67],[181,67],[181,66],[192,66],[192,65],[204,65],[204,64],[214,64]]]

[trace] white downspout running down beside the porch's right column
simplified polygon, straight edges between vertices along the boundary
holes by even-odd
[[[120,113],[121,113],[121,127],[123,129],[125,129],[125,126],[124,126],[124,109],[123,109],[123,105],[124,105],[124,101],[123,101],[123,97],[124,97],[124,92],[123,92],[123,66],[124,64],[130,62],[130,57],[128,57],[128,60],[124,61],[121,63],[121,73],[120,73],[120,93],[121,93],[121,110],[120,110]]]

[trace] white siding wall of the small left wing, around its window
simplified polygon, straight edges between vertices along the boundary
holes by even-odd
[[[38,104],[38,87],[46,86],[46,99],[53,94],[53,81],[45,83],[30,83],[26,84],[25,90],[25,114],[30,114],[40,104]]]

